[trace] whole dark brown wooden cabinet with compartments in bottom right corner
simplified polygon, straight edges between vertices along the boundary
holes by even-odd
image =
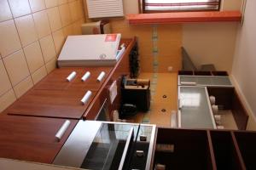
[[[154,143],[174,144],[172,153],[155,150],[167,169],[255,169],[256,132],[158,127]]]

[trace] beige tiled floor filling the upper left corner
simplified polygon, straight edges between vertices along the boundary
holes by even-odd
[[[55,69],[84,18],[82,0],[0,0],[0,112]]]

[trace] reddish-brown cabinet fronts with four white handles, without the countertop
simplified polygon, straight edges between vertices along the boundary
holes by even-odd
[[[55,69],[18,99],[15,104],[11,105],[5,113],[80,119],[111,70],[111,67]],[[76,71],[77,76],[71,82],[67,82],[66,78],[72,71]],[[81,77],[86,71],[90,71],[90,77],[82,82]],[[98,82],[96,78],[101,71],[105,71],[106,76],[102,82]],[[92,91],[93,94],[88,102],[82,105],[80,100],[88,90]]]

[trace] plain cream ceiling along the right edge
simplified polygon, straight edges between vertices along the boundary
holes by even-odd
[[[241,96],[244,97],[248,111],[256,114],[256,1],[248,0],[243,26],[237,34],[236,51],[232,74]],[[250,116],[248,129],[256,129],[256,124]]]

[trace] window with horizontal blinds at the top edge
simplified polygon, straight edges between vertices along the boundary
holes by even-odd
[[[219,10],[221,0],[142,0],[143,13]]]

